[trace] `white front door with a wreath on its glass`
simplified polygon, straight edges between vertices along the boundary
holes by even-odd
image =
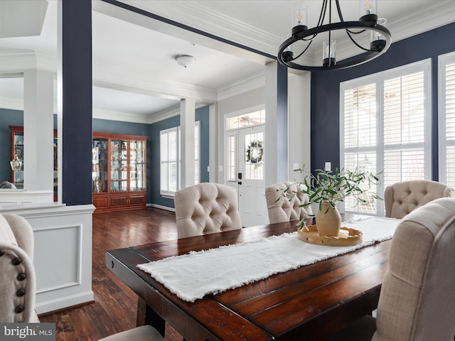
[[[268,224],[264,181],[264,125],[239,129],[237,193],[242,226]]]

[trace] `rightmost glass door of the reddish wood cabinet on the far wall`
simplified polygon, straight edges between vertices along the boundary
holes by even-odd
[[[146,141],[129,141],[129,190],[145,190]]]

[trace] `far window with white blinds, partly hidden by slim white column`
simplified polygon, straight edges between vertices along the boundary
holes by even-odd
[[[160,131],[160,194],[173,195],[181,186],[180,126]],[[200,179],[200,121],[194,126],[194,183]]]

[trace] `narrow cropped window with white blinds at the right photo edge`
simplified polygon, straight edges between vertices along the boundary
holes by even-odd
[[[439,181],[455,186],[455,53],[439,56]]]

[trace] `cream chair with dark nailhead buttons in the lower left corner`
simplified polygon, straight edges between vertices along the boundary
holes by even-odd
[[[39,323],[35,311],[33,229],[18,215],[0,215],[0,322]],[[159,332],[144,325],[111,335],[104,341],[158,341]]]

